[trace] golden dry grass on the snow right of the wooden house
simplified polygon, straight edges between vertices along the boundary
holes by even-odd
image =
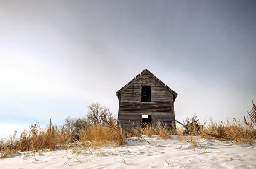
[[[180,126],[177,126],[175,131],[180,142],[189,142],[191,146],[199,144],[199,138],[216,139],[235,145],[256,144],[256,131],[252,130],[244,121],[235,118],[219,123],[210,119],[206,125],[200,125],[199,131],[195,126],[189,127],[187,134],[183,132],[183,128]]]

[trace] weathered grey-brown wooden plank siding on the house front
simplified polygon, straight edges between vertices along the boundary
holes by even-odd
[[[151,102],[141,102],[141,86],[151,86]],[[174,105],[172,93],[145,72],[121,92],[118,120],[127,127],[140,126],[140,114],[152,113],[153,123],[172,124]]]

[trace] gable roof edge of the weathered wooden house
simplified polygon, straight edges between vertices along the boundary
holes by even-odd
[[[138,78],[140,78],[140,76],[142,76],[143,74],[145,74],[146,72],[148,72],[148,74],[154,78],[157,82],[159,82],[163,87],[165,87],[169,92],[171,92],[173,94],[173,102],[175,101],[176,97],[177,97],[177,93],[175,91],[173,91],[170,87],[168,87],[164,82],[162,82],[160,79],[157,78],[157,76],[154,76],[153,73],[151,73],[148,69],[144,69],[142,72],[140,72],[137,76],[135,76],[133,79],[131,79],[130,82],[128,82],[124,87],[122,87],[120,90],[118,90],[116,92],[116,96],[118,97],[119,100],[119,94],[121,91],[125,90],[125,88],[127,88],[128,86],[130,86],[132,84],[132,82],[135,82]]]

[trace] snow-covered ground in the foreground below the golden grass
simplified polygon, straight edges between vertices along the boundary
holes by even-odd
[[[129,138],[128,144],[121,147],[20,152],[0,159],[0,168],[256,169],[256,146],[208,140],[200,140],[202,147],[198,143],[190,146],[174,135],[169,140],[156,136],[145,139],[153,145]]]

